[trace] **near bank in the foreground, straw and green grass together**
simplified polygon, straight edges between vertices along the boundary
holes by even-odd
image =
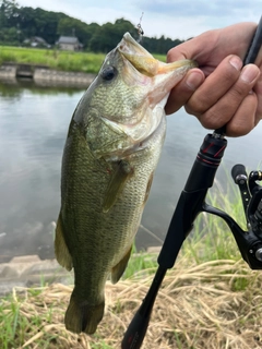
[[[216,186],[207,202],[238,217],[243,226],[235,194]],[[156,265],[156,255],[134,254],[123,280],[107,284],[106,313],[93,336],[64,329],[72,287],[14,288],[0,302],[0,348],[120,348]],[[202,215],[164,279],[143,349],[262,348],[261,282],[262,274],[241,260],[227,226]]]

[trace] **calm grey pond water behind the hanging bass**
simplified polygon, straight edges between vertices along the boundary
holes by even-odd
[[[15,255],[53,257],[53,222],[60,208],[60,167],[73,110],[84,91],[0,84],[0,262]],[[248,116],[247,116],[248,118]],[[180,110],[168,117],[167,137],[136,236],[138,249],[160,245],[207,130]],[[261,165],[262,123],[228,139],[217,172]]]

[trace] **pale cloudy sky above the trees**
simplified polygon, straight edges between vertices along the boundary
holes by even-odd
[[[63,12],[86,23],[124,17],[144,35],[187,39],[238,22],[259,22],[261,0],[17,0],[21,7]]]

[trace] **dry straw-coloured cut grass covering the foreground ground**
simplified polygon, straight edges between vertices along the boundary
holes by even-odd
[[[242,261],[188,263],[180,257],[165,277],[143,349],[262,348],[262,275]],[[106,314],[94,336],[64,329],[71,287],[15,288],[2,304],[7,316],[13,304],[19,309],[14,341],[23,337],[23,342],[15,348],[120,348],[151,280],[136,275],[115,286],[108,282]],[[4,322],[0,325],[4,328]]]

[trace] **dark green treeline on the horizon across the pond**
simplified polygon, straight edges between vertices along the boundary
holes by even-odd
[[[0,45],[23,46],[33,37],[41,37],[53,46],[62,35],[76,36],[86,51],[108,52],[126,32],[138,38],[134,24],[124,19],[103,25],[87,24],[61,12],[20,7],[15,0],[0,0]],[[164,36],[143,38],[147,50],[163,55],[180,43]]]

